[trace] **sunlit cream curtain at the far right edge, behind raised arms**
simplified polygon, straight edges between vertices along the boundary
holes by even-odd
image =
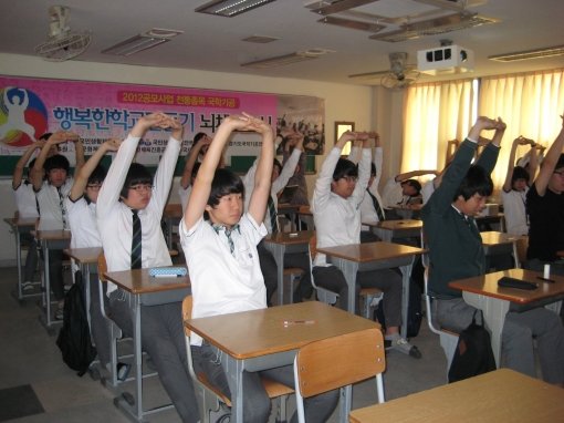
[[[519,135],[549,146],[562,127],[564,113],[564,69],[483,78],[480,84],[479,114],[500,116],[508,125],[492,178],[503,185],[509,153]],[[491,135],[484,134],[487,137]],[[529,146],[520,146],[516,157]]]

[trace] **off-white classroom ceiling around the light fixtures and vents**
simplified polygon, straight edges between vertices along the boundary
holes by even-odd
[[[74,58],[85,62],[115,62],[136,65],[196,69],[275,78],[305,79],[353,84],[377,84],[379,79],[357,80],[348,75],[389,69],[388,53],[409,53],[416,63],[417,51],[438,48],[441,39],[470,49],[476,54],[472,75],[513,73],[564,66],[564,55],[512,63],[499,63],[488,56],[564,44],[564,2],[562,0],[458,0],[470,12],[500,20],[498,23],[453,32],[426,35],[403,42],[372,40],[370,32],[318,23],[322,16],[306,6],[318,1],[278,0],[233,18],[196,13],[208,0],[0,0],[0,52],[35,55],[34,47],[48,38],[48,8],[70,8],[67,24],[72,30],[90,30],[88,49]],[[325,3],[334,0],[326,0]],[[348,1],[348,0],[347,0]],[[449,0],[378,0],[349,10],[342,18],[384,24],[382,32],[397,30],[401,17],[411,22],[440,12],[429,3]],[[455,1],[456,3],[456,1]],[[322,4],[323,6],[323,4]],[[366,13],[391,19],[367,21]],[[417,17],[424,14],[425,18]],[[452,10],[440,12],[452,13]],[[152,28],[184,31],[170,42],[129,55],[102,54],[107,49]],[[268,35],[270,43],[241,41],[251,35]],[[283,66],[253,70],[242,63],[301,52],[328,50],[315,60]],[[451,76],[425,76],[425,80]],[[460,78],[460,76],[458,76]]]

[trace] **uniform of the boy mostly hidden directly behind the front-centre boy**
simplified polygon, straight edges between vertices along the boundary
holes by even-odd
[[[303,152],[301,149],[294,148],[294,151],[288,158],[286,163],[282,167],[282,172],[280,172],[278,178],[272,182],[270,188],[270,196],[272,198],[272,204],[276,213],[278,213],[278,193],[284,189],[284,187],[288,185],[288,182],[294,174],[295,167],[297,166],[302,153]],[[253,165],[243,177],[244,192],[247,193],[244,197],[246,209],[249,208],[251,193],[254,189],[254,175],[257,173],[257,163],[258,161],[254,161]],[[272,234],[272,219],[269,209],[267,209],[267,213],[264,215],[264,226],[267,227],[268,233]],[[260,267],[262,270],[262,275],[264,277],[264,285],[267,286],[267,300],[270,303],[272,295],[278,289],[278,266],[276,261],[274,260],[274,257],[272,256],[272,252],[264,246],[264,241],[259,243],[257,249],[259,251]],[[285,254],[284,268],[289,267],[297,267],[304,270],[302,279],[300,280],[300,286],[296,287],[295,289],[294,299],[296,302],[299,302],[302,300],[302,297],[304,296],[307,297],[307,292],[311,295],[312,282],[310,277],[310,259],[307,255],[303,252]]]

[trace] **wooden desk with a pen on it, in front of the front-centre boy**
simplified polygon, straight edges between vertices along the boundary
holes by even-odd
[[[284,327],[284,320],[313,320],[313,324]],[[379,324],[318,301],[299,302],[262,310],[188,319],[185,324],[226,352],[221,365],[234,382],[231,392],[233,421],[242,422],[242,372],[292,364],[297,350],[312,341],[379,327]],[[351,386],[341,404],[341,422],[351,409]]]

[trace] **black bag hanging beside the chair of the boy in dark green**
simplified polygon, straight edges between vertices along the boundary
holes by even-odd
[[[472,323],[458,338],[457,350],[449,369],[449,383],[472,378],[495,370],[495,359],[491,349],[490,333],[482,324],[476,322],[476,310]]]

